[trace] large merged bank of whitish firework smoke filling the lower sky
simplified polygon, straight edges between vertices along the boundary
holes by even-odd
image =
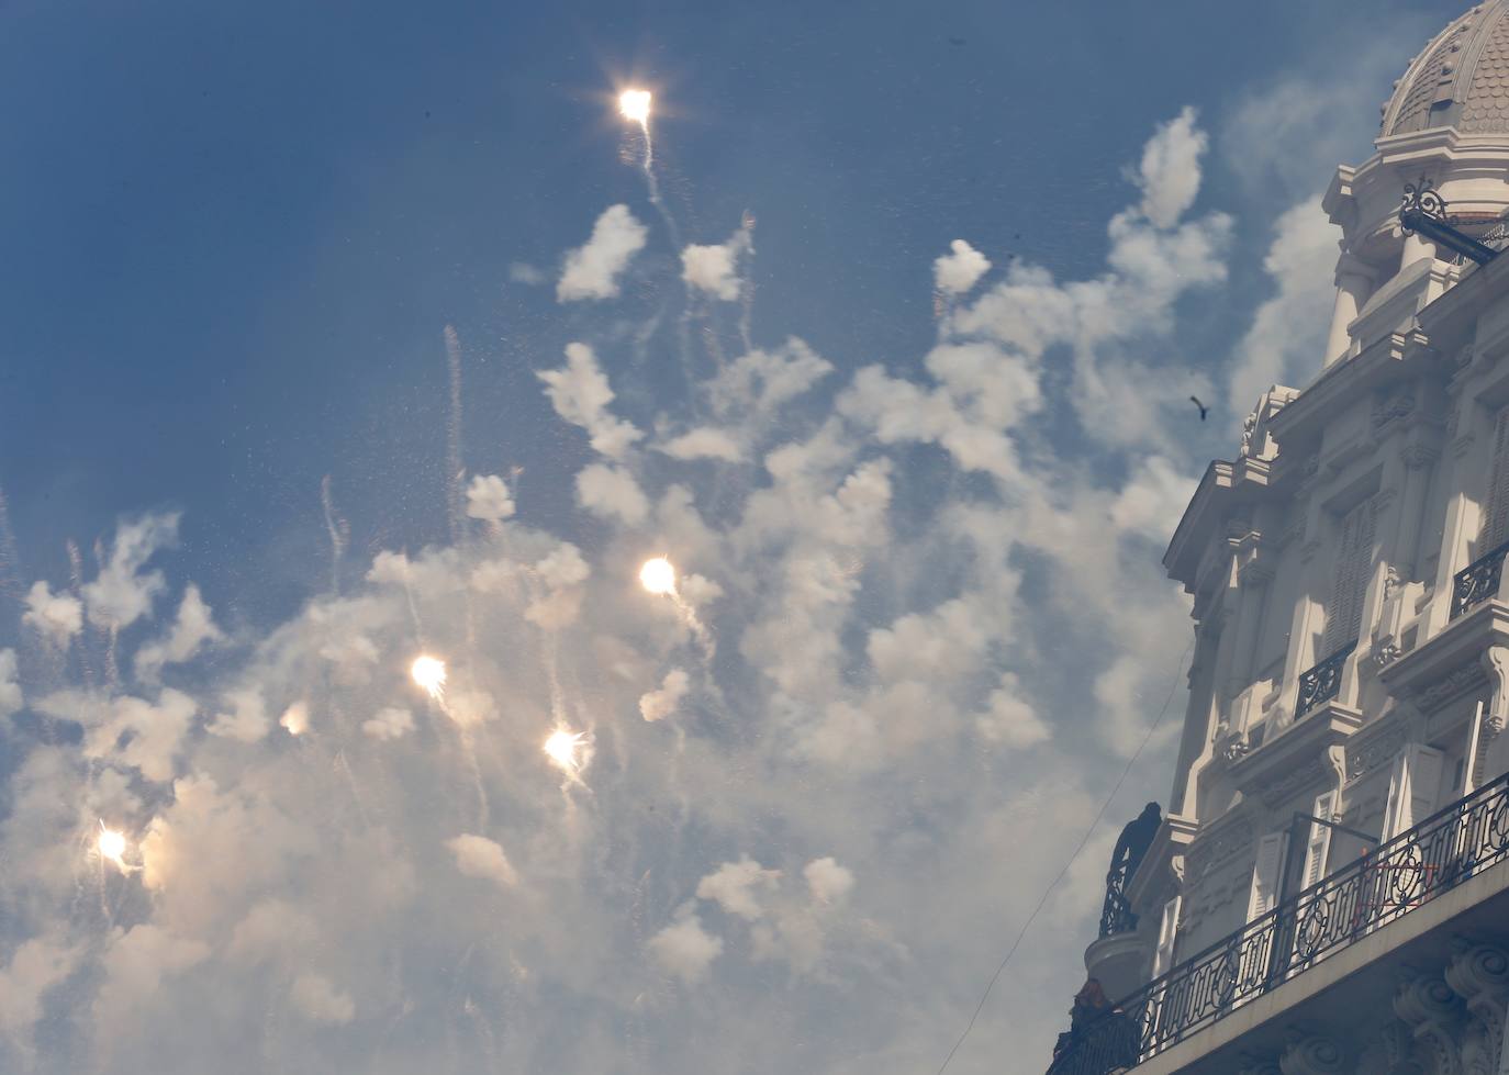
[[[1154,178],[1179,158],[1159,137]],[[376,553],[365,577],[238,630],[235,648],[184,642],[180,691],[86,677],[94,635],[68,654],[23,645],[12,681],[59,734],[23,742],[14,725],[0,951],[14,966],[27,939],[51,947],[21,985],[0,977],[0,1021],[56,1012],[38,1067],[78,1069],[56,1043],[66,1024],[101,1075],[204,1070],[243,1037],[247,1069],[266,1070],[548,1055],[563,1072],[748,1057],[845,1072],[854,1042],[865,1070],[933,1057],[937,1027],[978,997],[979,938],[1031,911],[1120,769],[1106,755],[1177,685],[1188,603],[1156,544],[1192,464],[1132,431],[1156,427],[1177,368],[1163,336],[1219,280],[1225,225],[1186,220],[1194,198],[1169,194],[1159,211],[1188,205],[1157,226],[1144,198],[1099,273],[976,280],[889,369],[789,339],[727,356],[684,406],[628,389],[638,326],[605,312],[602,363],[569,351],[533,400],[596,452],[560,476],[554,510]],[[652,357],[675,345],[649,339]],[[1123,390],[1135,421],[1082,445],[1076,419]],[[702,452],[635,451],[640,430],[656,446],[723,434],[747,466],[688,463],[706,434]],[[507,487],[472,485],[492,505],[474,517],[499,514]],[[661,550],[682,605],[634,580]],[[136,593],[146,567],[127,573]],[[121,633],[122,662],[142,635],[166,647],[175,629]],[[1067,686],[1043,672],[1065,639],[1082,662]],[[420,651],[451,672],[423,731]],[[140,647],[134,662],[169,663]],[[693,685],[694,719],[667,721]],[[291,736],[267,734],[279,712]],[[555,728],[590,734],[575,779],[542,749]],[[1129,789],[1132,813],[1145,790]],[[98,868],[101,817],[139,870]],[[1105,840],[1055,890],[966,1063],[1046,1064]],[[925,1006],[896,986],[922,979]],[[688,1018],[709,1033],[688,1036]],[[0,1067],[26,1069],[3,1049]]]

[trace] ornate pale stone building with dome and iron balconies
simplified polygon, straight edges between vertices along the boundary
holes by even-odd
[[[1165,556],[1176,783],[1085,956],[1120,1004],[1055,1073],[1509,1075],[1509,0],[1414,59],[1325,210],[1320,372]]]

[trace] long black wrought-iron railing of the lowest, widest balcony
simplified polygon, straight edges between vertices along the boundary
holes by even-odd
[[[1115,1004],[1076,1034],[1049,1075],[1135,1067],[1506,858],[1509,773]]]

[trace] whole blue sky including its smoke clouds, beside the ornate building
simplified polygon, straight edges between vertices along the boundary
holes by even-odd
[[[1459,5],[878,8],[0,12],[14,1066],[936,1069],[1177,681],[1162,543],[1319,366],[1314,198]],[[1114,828],[952,1070],[1046,1066]]]

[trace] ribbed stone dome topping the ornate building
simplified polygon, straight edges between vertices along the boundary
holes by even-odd
[[[1381,137],[1434,127],[1509,134],[1509,0],[1476,5],[1455,20],[1394,84]]]

